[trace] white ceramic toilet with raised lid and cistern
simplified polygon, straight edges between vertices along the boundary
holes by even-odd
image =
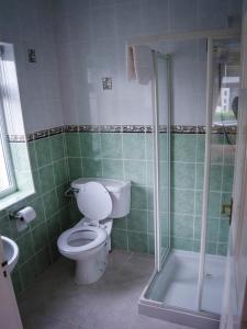
[[[81,178],[71,183],[71,191],[85,217],[59,236],[57,247],[63,256],[76,261],[76,283],[88,284],[104,273],[112,218],[130,213],[131,182]]]

